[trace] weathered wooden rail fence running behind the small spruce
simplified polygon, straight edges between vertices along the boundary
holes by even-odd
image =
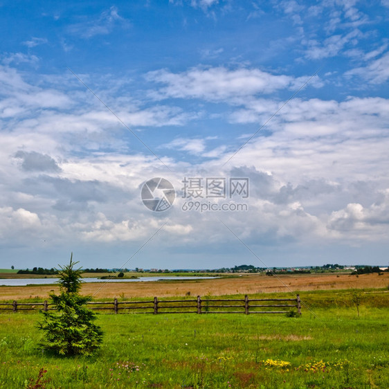
[[[134,314],[287,314],[293,309],[297,309],[301,314],[300,296],[296,298],[206,298],[186,300],[168,300],[154,297],[153,300],[144,301],[89,301],[87,305],[91,309],[101,311],[113,311],[114,314],[134,313]],[[44,302],[0,302],[0,312],[5,310],[50,311],[51,304]],[[275,310],[277,309],[277,310]]]

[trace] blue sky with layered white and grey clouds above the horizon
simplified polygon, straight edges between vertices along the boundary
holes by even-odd
[[[0,0],[0,268],[387,266],[388,19]]]

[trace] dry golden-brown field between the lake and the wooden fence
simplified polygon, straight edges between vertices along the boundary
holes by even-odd
[[[242,275],[237,278],[210,280],[177,280],[164,282],[96,282],[82,286],[82,294],[93,298],[134,298],[185,296],[221,296],[237,293],[270,293],[282,291],[311,291],[323,289],[383,288],[389,285],[389,273],[349,275],[342,273],[321,273],[302,275],[263,274]],[[20,300],[24,298],[48,298],[53,285],[0,287],[0,300]]]

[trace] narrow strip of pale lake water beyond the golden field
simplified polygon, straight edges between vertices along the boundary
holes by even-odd
[[[109,278],[107,280],[102,280],[101,278],[91,277],[91,278],[82,278],[83,282],[148,282],[148,281],[164,281],[164,280],[209,280],[211,278],[217,277],[139,277],[139,278]],[[7,279],[0,280],[0,286],[5,285],[7,287],[25,287],[26,285],[47,285],[55,284],[59,278],[19,278],[19,279]]]

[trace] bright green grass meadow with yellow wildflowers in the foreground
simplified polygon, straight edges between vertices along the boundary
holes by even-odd
[[[39,314],[1,313],[0,388],[41,368],[46,388],[389,388],[387,293],[365,291],[360,317],[350,291],[306,293],[300,318],[100,314],[89,359],[39,350]]]

